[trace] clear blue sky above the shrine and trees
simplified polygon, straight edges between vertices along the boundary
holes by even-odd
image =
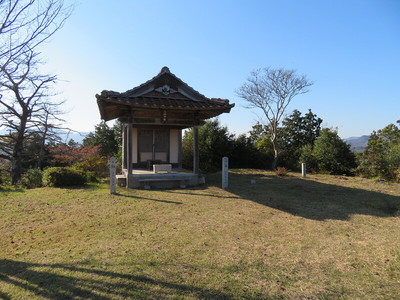
[[[96,93],[131,89],[163,66],[207,97],[235,103],[220,121],[237,134],[262,114],[235,90],[267,66],[313,81],[288,114],[310,108],[343,138],[400,119],[397,0],[82,0],[42,53],[79,131],[100,122]]]

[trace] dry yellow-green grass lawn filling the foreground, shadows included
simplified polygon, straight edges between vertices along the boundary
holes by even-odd
[[[0,299],[398,299],[399,184],[229,180],[0,192]]]

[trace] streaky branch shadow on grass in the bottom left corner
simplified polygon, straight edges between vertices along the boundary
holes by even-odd
[[[0,283],[44,299],[231,299],[216,290],[162,281],[144,275],[111,272],[73,264],[37,264],[0,260]],[[13,288],[11,288],[13,289]],[[12,296],[0,292],[0,299]]]

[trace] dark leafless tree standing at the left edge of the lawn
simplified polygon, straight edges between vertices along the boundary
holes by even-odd
[[[57,77],[41,75],[35,56],[32,52],[26,53],[25,57],[19,57],[20,62],[14,61],[7,68],[0,66],[0,91],[3,96],[0,99],[0,124],[8,131],[0,135],[0,156],[12,163],[13,184],[21,177],[25,140],[43,127],[43,121],[48,121],[47,108],[57,105],[49,100],[53,95],[51,86]]]

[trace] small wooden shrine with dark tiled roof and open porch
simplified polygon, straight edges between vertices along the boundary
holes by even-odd
[[[101,118],[123,123],[122,175],[129,188],[173,188],[204,183],[198,128],[235,104],[207,98],[163,67],[149,81],[119,93],[96,95]],[[193,170],[182,169],[182,130],[193,128]],[[223,153],[221,153],[221,157]]]

